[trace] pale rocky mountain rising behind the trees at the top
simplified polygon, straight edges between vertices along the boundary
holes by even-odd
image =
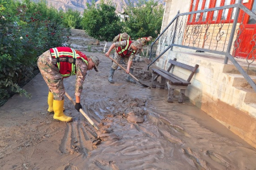
[[[40,0],[32,0],[34,2],[39,2]],[[48,6],[53,6],[58,10],[66,11],[67,9],[75,9],[80,11],[81,13],[85,8],[87,8],[86,4],[92,4],[92,0],[44,0],[46,1]],[[136,4],[138,0],[130,0],[131,3]],[[96,3],[99,3],[100,0],[95,0]],[[124,6],[128,4],[128,0],[114,0],[112,1],[116,4],[116,11],[122,12]],[[159,4],[164,4],[164,0],[157,1]]]

